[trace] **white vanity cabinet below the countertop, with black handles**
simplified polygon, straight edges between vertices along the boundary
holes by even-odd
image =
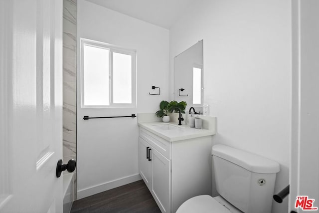
[[[139,172],[162,213],[211,195],[212,136],[167,141],[140,126]]]

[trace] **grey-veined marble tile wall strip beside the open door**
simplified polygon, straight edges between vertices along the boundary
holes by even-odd
[[[63,0],[63,162],[76,159],[76,0]],[[76,171],[74,200],[77,199]],[[71,183],[72,184],[72,183]]]

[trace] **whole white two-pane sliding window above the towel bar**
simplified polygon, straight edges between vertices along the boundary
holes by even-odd
[[[81,107],[135,107],[136,51],[81,38]]]

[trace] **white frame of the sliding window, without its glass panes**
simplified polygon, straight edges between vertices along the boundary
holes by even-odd
[[[81,90],[81,108],[136,108],[136,75],[137,75],[137,54],[136,50],[125,49],[122,47],[115,46],[113,44],[104,43],[101,41],[90,40],[86,38],[80,39],[81,50],[80,50],[80,90]],[[85,105],[84,104],[84,45],[92,46],[97,48],[103,48],[109,50],[109,103],[110,105]],[[131,97],[132,103],[113,103],[113,53],[120,53],[131,55],[132,57],[132,70],[131,70]]]

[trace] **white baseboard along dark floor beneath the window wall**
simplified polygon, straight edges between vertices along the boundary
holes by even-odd
[[[139,181],[139,180],[142,180],[140,174],[135,174],[135,175],[127,176],[127,177],[120,178],[117,180],[113,180],[110,182],[106,182],[104,184],[100,184],[97,186],[86,188],[86,189],[78,191],[78,200],[82,199],[82,198],[89,197],[91,195],[95,195],[95,194],[107,191],[107,190],[110,190],[110,189],[114,189],[114,188],[117,188],[117,187],[120,187],[120,186],[123,186],[126,184],[130,184],[130,183],[133,183],[133,182]]]

